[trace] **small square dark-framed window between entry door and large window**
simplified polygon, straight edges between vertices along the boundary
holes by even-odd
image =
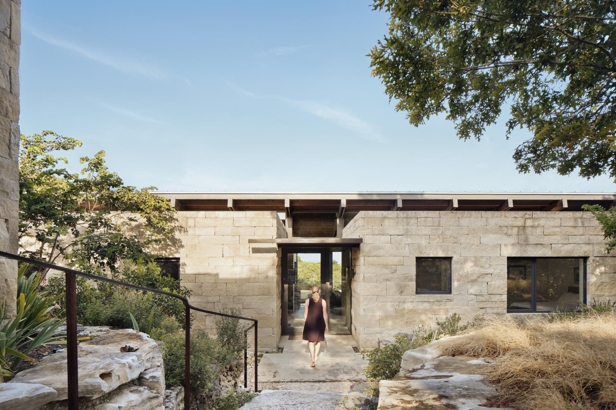
[[[416,258],[415,294],[451,294],[452,259]]]

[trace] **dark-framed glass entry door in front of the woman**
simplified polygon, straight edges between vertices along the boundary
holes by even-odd
[[[282,330],[301,334],[310,287],[318,285],[328,307],[330,334],[349,334],[351,326],[351,250],[283,249]]]

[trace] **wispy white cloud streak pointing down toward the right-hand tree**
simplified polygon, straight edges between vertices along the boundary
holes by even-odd
[[[271,98],[274,100],[280,100],[294,107],[298,107],[302,111],[306,111],[312,115],[316,115],[320,118],[331,121],[332,123],[338,125],[339,127],[349,129],[357,133],[357,135],[365,140],[373,141],[373,142],[388,142],[389,140],[383,135],[379,134],[379,132],[375,129],[375,127],[359,118],[358,116],[353,115],[349,111],[343,110],[341,108],[331,107],[330,105],[317,102],[317,101],[300,101],[300,100],[292,100],[290,98],[285,97],[277,97],[272,96],[269,97],[267,95],[259,95],[255,94],[250,90],[246,90],[243,87],[238,86],[237,84],[233,84],[233,82],[228,82],[229,87],[231,87],[238,94],[244,95],[245,97],[254,98],[258,100],[263,100],[265,98]]]

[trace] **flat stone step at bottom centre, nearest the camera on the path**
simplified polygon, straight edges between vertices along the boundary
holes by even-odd
[[[261,395],[241,406],[240,410],[342,410],[366,400],[360,393],[317,390],[263,390]]]

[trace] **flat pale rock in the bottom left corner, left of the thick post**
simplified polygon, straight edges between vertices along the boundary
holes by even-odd
[[[58,393],[51,387],[32,383],[0,384],[0,409],[34,410],[56,400]]]

